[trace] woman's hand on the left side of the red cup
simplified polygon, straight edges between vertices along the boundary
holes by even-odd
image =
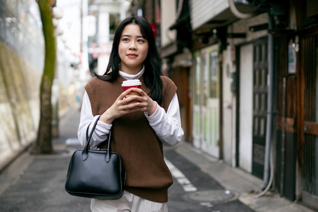
[[[101,115],[100,121],[111,125],[115,118],[119,118],[125,114],[138,111],[139,103],[130,103],[131,101],[136,100],[138,96],[131,95],[129,97],[125,97],[126,95],[129,95],[130,92],[131,89],[122,92],[114,104]]]

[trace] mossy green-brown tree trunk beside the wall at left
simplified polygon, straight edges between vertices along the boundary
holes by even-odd
[[[41,13],[45,40],[45,64],[40,87],[40,123],[38,137],[31,149],[31,153],[48,154],[53,152],[51,88],[55,71],[56,47],[49,0],[37,0],[37,3]]]

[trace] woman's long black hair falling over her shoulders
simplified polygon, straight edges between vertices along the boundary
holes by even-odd
[[[97,73],[95,73],[95,75],[98,78],[106,81],[114,81],[118,77],[120,67],[118,46],[120,42],[120,37],[124,27],[131,23],[139,25],[142,36],[148,41],[148,55],[143,62],[143,65],[145,66],[143,79],[146,86],[150,88],[150,93],[148,94],[150,98],[156,101],[158,104],[161,104],[163,101],[163,82],[160,78],[160,76],[162,75],[161,58],[158,54],[152,28],[149,22],[144,17],[128,17],[120,22],[115,32],[113,46],[110,53],[109,63],[106,72],[104,73],[104,75],[98,75]]]

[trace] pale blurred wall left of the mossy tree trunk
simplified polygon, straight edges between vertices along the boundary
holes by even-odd
[[[0,166],[36,137],[44,62],[35,1],[0,1]]]

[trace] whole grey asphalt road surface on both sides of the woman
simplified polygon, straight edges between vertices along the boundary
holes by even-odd
[[[74,145],[78,123],[79,111],[73,108],[60,120],[60,136],[53,142],[56,154],[32,156],[26,152],[0,174],[0,211],[90,211],[89,199],[71,196],[64,190],[71,154],[80,148]],[[253,211],[237,199],[235,191],[222,188],[175,148],[164,149],[174,176],[169,212]]]

